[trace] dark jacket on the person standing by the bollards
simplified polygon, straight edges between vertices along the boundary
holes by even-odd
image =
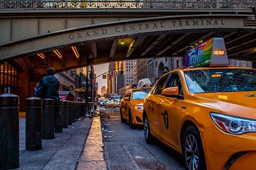
[[[43,77],[43,97],[53,98],[55,101],[59,101],[60,97],[58,91],[60,89],[60,81],[53,75],[47,75]]]

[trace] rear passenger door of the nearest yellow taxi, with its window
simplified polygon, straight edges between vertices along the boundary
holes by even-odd
[[[159,120],[161,118],[161,112],[159,111],[161,107],[161,91],[164,89],[164,86],[166,85],[166,80],[168,76],[164,76],[159,81],[157,81],[156,86],[150,96],[146,98],[147,102],[147,117],[149,119],[149,127],[151,130],[152,135],[155,137],[159,137],[159,130],[161,128],[161,125],[159,123]]]

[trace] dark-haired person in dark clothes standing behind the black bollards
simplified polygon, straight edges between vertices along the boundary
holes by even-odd
[[[60,81],[54,76],[55,70],[49,67],[46,70],[47,76],[43,77],[43,95],[42,98],[52,98],[55,106],[55,132],[62,132],[62,120],[60,117]]]

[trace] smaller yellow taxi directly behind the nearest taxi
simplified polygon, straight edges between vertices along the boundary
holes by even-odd
[[[124,95],[120,103],[121,122],[129,122],[130,128],[134,125],[143,125],[142,111],[143,99],[149,93],[149,89],[130,89]]]

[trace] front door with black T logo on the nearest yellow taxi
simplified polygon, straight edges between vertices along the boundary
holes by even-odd
[[[178,72],[172,73],[166,88],[178,86],[179,95],[183,96],[181,79]],[[183,99],[173,98],[169,96],[161,96],[161,124],[160,139],[168,143],[172,147],[178,149],[178,116],[181,115],[181,104]]]

